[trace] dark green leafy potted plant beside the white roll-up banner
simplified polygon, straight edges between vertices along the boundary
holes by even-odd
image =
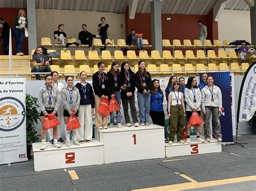
[[[38,142],[40,136],[37,135],[36,126],[34,124],[37,123],[37,119],[40,119],[37,108],[37,97],[26,94],[26,149],[28,159],[31,159],[31,143]]]

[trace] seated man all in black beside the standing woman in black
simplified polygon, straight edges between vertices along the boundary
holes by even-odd
[[[95,34],[90,33],[87,31],[87,25],[83,24],[82,25],[83,31],[80,31],[78,34],[78,39],[81,41],[82,45],[89,45],[90,51],[95,49],[92,46],[92,40],[93,38],[100,38],[100,36],[96,36]]]

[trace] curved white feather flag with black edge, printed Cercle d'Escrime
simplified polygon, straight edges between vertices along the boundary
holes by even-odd
[[[256,111],[256,61],[247,69],[238,99],[237,122],[249,121]]]

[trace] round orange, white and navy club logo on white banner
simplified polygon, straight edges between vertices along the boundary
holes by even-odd
[[[13,131],[25,120],[25,106],[15,97],[0,98],[0,131]]]

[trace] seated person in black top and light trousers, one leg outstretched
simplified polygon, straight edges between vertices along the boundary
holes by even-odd
[[[54,40],[56,43],[62,44],[62,47],[64,50],[66,50],[70,45],[74,44],[74,45],[79,45],[79,43],[75,42],[75,43],[66,43],[65,45],[65,40],[68,40],[68,38],[72,38],[73,36],[70,35],[68,36],[65,32],[64,32],[64,24],[59,24],[58,25],[58,30],[53,32],[53,36],[54,36]]]

